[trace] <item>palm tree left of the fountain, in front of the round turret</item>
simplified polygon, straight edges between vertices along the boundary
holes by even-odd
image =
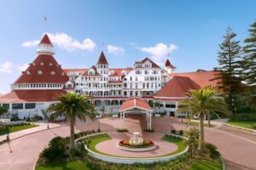
[[[69,149],[74,150],[74,125],[76,117],[85,121],[85,116],[94,118],[94,105],[90,104],[90,101],[81,94],[67,93],[61,94],[57,97],[58,103],[49,105],[48,113],[53,113],[54,118],[65,114],[70,121],[70,144]]]

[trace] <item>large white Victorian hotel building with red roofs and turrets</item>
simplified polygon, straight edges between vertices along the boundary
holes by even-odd
[[[111,68],[103,52],[89,69],[62,69],[47,35],[38,47],[38,57],[11,85],[11,92],[0,97],[0,105],[20,118],[44,117],[56,96],[67,92],[91,96],[100,114],[117,114],[126,99],[139,97],[158,101],[154,112],[166,111],[169,116],[189,89],[217,85],[212,81],[214,71],[174,73],[176,67],[168,59],[164,68],[148,58],[133,67]]]

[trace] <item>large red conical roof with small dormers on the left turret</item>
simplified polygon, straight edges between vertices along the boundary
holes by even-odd
[[[38,74],[38,71],[42,71],[42,74]],[[67,81],[67,75],[52,55],[39,54],[14,83],[65,83]]]

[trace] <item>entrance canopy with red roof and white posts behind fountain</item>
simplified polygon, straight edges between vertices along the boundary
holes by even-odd
[[[129,113],[142,114],[143,116],[146,116],[147,128],[150,130],[152,128],[152,112],[153,109],[148,105],[148,103],[137,97],[126,99],[119,108],[120,120],[124,121],[125,115]]]

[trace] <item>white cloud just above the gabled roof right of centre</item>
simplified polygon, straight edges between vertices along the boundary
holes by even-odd
[[[141,51],[151,54],[152,59],[159,65],[163,65],[166,59],[174,50],[177,49],[177,46],[174,44],[170,44],[169,46],[165,43],[157,43],[154,47],[144,47],[139,48]]]

